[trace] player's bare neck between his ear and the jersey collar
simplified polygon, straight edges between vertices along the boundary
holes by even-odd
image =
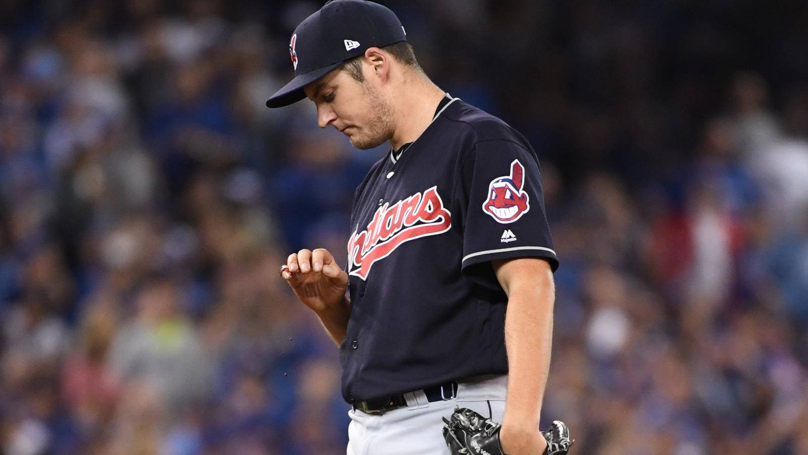
[[[420,78],[419,78],[420,79]],[[395,107],[396,127],[390,145],[398,150],[417,139],[435,117],[435,108],[446,93],[426,77],[406,84]]]

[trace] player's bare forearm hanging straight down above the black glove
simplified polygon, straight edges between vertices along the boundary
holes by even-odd
[[[552,279],[539,279],[508,295],[508,386],[503,427],[538,427],[549,372],[554,299]]]

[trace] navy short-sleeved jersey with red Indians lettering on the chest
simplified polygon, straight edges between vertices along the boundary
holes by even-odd
[[[351,230],[347,402],[507,372],[507,296],[490,261],[558,267],[538,159],[521,134],[444,99],[415,142],[368,172]]]

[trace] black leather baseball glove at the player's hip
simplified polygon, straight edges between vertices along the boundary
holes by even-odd
[[[444,417],[444,423],[444,439],[452,455],[506,455],[499,445],[501,423],[465,407],[455,409],[451,419]],[[570,429],[560,420],[553,420],[541,435],[547,440],[545,455],[566,455],[574,442]]]

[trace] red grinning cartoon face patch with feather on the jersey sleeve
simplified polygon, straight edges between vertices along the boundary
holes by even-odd
[[[488,185],[488,199],[482,203],[482,210],[499,223],[513,223],[528,213],[528,193],[524,186],[524,166],[519,159],[511,162],[511,175],[495,178]]]

